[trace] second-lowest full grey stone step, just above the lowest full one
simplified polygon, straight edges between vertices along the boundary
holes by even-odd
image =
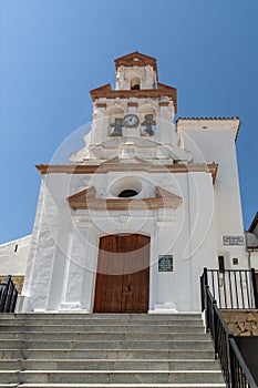
[[[0,360],[1,370],[219,370],[215,360],[44,359]]]

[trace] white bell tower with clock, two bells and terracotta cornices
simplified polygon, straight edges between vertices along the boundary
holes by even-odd
[[[135,157],[166,163],[188,162],[178,146],[173,123],[177,110],[176,89],[157,82],[156,59],[133,52],[115,61],[115,89],[105,84],[91,91],[92,132],[86,146],[71,162],[102,163],[111,157]]]

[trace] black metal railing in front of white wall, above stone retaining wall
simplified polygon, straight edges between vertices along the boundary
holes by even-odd
[[[207,269],[200,277],[202,308],[205,287],[209,286],[217,305],[223,309],[258,308],[255,269]]]

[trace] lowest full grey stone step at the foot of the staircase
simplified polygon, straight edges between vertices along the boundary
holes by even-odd
[[[110,370],[21,370],[1,371],[1,382],[32,384],[223,384],[220,371],[216,370],[159,370],[159,371],[110,371]]]

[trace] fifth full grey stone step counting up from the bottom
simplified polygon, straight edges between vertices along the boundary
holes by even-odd
[[[157,340],[205,340],[209,339],[208,334],[198,334],[198,333],[6,333],[0,331],[0,340],[8,339],[20,339],[20,340],[112,340],[112,341],[121,341],[121,340],[148,340],[148,341],[157,341]],[[1,343],[0,343],[1,347]]]

